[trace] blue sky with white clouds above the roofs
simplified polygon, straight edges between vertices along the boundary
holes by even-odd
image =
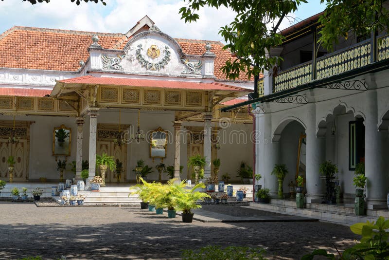
[[[76,6],[70,0],[51,0],[50,3],[31,5],[21,0],[0,1],[0,34],[14,25],[92,32],[126,33],[143,16],[148,15],[165,33],[177,38],[221,40],[219,28],[234,18],[227,8],[205,8],[196,23],[185,24],[178,10],[182,0],[106,0]],[[292,17],[297,21],[324,10],[320,0],[302,4]],[[285,21],[283,28],[290,24]]]

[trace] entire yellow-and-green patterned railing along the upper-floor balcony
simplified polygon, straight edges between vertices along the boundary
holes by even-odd
[[[373,44],[375,44],[374,47]],[[374,55],[372,52],[375,52]],[[389,35],[375,37],[374,43],[371,39],[367,39],[351,47],[319,57],[315,61],[299,64],[274,76],[273,93],[294,89],[313,80],[351,72],[386,59],[389,59]],[[260,86],[258,87],[260,92]],[[261,96],[260,93],[259,96]]]

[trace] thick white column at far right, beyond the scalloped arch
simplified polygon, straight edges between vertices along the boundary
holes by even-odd
[[[369,84],[369,87],[373,84]],[[366,187],[366,201],[369,209],[386,208],[388,183],[385,169],[386,143],[385,134],[377,129],[378,109],[377,91],[366,91],[366,120],[365,120],[365,175],[368,178]]]

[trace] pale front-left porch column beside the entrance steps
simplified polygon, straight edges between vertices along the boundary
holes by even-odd
[[[89,177],[88,180],[96,176],[96,133],[97,115],[99,108],[89,108]]]

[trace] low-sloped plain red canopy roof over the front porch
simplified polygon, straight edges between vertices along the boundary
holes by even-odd
[[[60,83],[68,84],[92,84],[92,85],[116,85],[116,86],[133,86],[133,87],[153,87],[166,89],[190,89],[190,90],[229,90],[229,91],[246,91],[250,90],[229,86],[220,83],[197,83],[188,81],[173,80],[153,80],[153,79],[136,79],[136,78],[117,78],[117,77],[94,77],[92,75],[59,80]]]

